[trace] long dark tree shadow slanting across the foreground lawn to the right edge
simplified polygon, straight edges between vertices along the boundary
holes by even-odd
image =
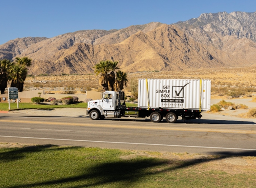
[[[50,145],[42,146],[41,148],[30,148],[29,152],[38,152],[50,147]],[[61,149],[61,148],[57,148]],[[63,148],[65,149],[65,148]],[[67,148],[66,148],[67,149]],[[70,149],[70,148],[69,148]],[[34,150],[34,151],[31,151]],[[24,150],[23,152],[27,152]],[[224,152],[225,153],[225,152]],[[223,153],[223,154],[224,154]],[[254,155],[254,151],[245,151],[239,153],[232,153],[233,155]],[[199,163],[206,163],[214,160],[224,159],[231,156],[216,155],[204,159],[190,159],[190,160],[170,160],[170,159],[156,159],[156,158],[135,158],[118,161],[107,161],[105,163],[96,163],[88,168],[82,167],[80,174],[56,180],[41,181],[36,183],[27,183],[12,186],[9,188],[31,188],[37,186],[55,187],[65,186],[72,188],[80,187],[95,187],[95,186],[110,186],[114,184],[118,187],[132,186],[141,179],[151,178],[150,176],[158,175],[160,173],[172,172],[177,169],[187,168]],[[56,169],[58,170],[58,169]],[[70,169],[72,172],[73,169]],[[53,178],[55,179],[55,178]]]

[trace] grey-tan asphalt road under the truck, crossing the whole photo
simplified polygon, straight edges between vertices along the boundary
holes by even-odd
[[[214,118],[215,119],[215,118]],[[249,120],[105,119],[0,114],[0,143],[57,144],[202,154],[256,154],[256,123]]]

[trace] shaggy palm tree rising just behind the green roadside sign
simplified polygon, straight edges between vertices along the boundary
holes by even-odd
[[[17,87],[21,92],[23,91],[24,81],[27,77],[28,69],[27,67],[32,65],[32,59],[28,57],[16,57],[16,64],[13,66],[12,70],[12,83],[11,87]]]

